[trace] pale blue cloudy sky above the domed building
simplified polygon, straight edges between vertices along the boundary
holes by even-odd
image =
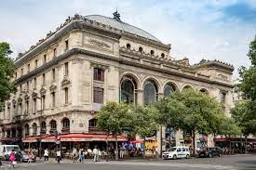
[[[175,59],[188,58],[192,64],[220,59],[236,68],[249,66],[256,0],[8,0],[0,6],[0,41],[9,42],[16,56],[68,16],[112,17],[116,7],[121,20],[171,44]]]

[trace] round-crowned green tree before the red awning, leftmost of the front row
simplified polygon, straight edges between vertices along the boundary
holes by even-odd
[[[107,136],[115,137],[115,160],[118,160],[117,136],[123,134],[124,129],[128,129],[132,124],[129,106],[125,103],[108,102],[97,113],[97,119],[98,128],[104,131]]]

